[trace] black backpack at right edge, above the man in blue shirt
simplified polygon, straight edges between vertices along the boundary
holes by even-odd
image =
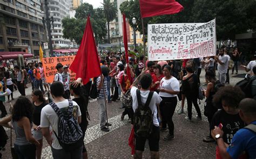
[[[235,86],[239,86],[240,89],[245,93],[246,98],[253,98],[252,95],[252,82],[256,79],[256,77],[246,77],[239,81]]]

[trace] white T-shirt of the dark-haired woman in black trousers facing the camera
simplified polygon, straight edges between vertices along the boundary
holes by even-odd
[[[162,78],[159,88],[164,88],[167,90],[173,90],[173,91],[179,91],[179,81],[177,78],[173,77],[170,79],[165,79]],[[167,92],[159,92],[159,96],[161,97],[177,97],[177,95],[171,95],[170,93]]]

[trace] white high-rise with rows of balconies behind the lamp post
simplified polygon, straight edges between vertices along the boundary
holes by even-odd
[[[62,19],[69,17],[70,0],[48,0],[47,2],[50,17],[53,17],[53,27],[51,24],[52,47],[53,49],[70,48],[71,41],[62,37]]]

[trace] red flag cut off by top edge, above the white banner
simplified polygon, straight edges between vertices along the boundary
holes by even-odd
[[[139,0],[142,18],[160,15],[172,15],[183,10],[175,0]]]

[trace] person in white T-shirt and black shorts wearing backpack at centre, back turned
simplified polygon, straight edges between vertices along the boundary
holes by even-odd
[[[137,101],[137,90],[136,87],[140,83],[142,88],[139,90],[140,92],[140,98],[142,100],[142,104],[145,105],[147,97],[150,94],[150,86],[152,83],[152,77],[150,74],[144,74],[142,73],[135,79],[135,81],[132,84],[131,88],[131,96],[132,96],[132,108],[135,112],[138,108],[138,101]],[[150,155],[151,158],[159,158],[159,122],[157,120],[157,105],[161,102],[160,96],[157,94],[157,92],[153,92],[153,96],[151,98],[151,102],[149,104],[149,107],[152,111],[153,115],[153,128],[150,136],[148,138],[142,137],[142,136],[135,136],[135,154],[134,158],[142,158],[145,142],[146,140],[149,140],[149,147],[150,147]]]

